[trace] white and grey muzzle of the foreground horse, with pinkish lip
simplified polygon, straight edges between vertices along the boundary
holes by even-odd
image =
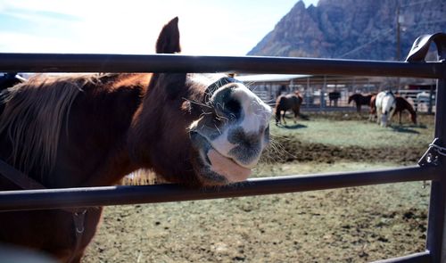
[[[268,144],[272,109],[234,78],[220,78],[206,94],[213,114],[194,123],[191,130],[209,144],[203,153],[213,172],[229,182],[244,181]]]

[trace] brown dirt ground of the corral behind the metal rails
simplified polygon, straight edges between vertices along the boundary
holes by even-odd
[[[310,130],[318,117],[307,117],[300,123]],[[345,114],[326,114],[323,119],[343,121]],[[387,132],[400,132],[397,137],[420,137],[432,132],[433,117],[419,119],[424,123],[422,129],[404,126]],[[364,116],[351,115],[348,120],[361,124]],[[293,126],[277,127],[275,131],[278,136],[256,169],[257,176],[413,165],[431,141],[426,136],[419,144],[401,141],[385,147],[364,146],[365,143],[344,146],[302,140],[294,136],[297,132]],[[301,132],[306,131],[301,129]],[[429,185],[413,182],[107,207],[83,262],[388,259],[424,251],[428,199]]]

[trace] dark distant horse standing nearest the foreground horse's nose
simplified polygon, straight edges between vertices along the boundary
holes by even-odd
[[[284,124],[286,125],[285,121],[285,113],[288,110],[291,110],[294,112],[294,123],[296,122],[297,116],[301,114],[301,103],[303,102],[302,96],[299,94],[299,92],[294,92],[293,94],[288,95],[279,95],[276,100],[276,125],[279,123],[282,123],[281,119],[284,120]],[[283,115],[281,115],[281,112],[284,112]]]

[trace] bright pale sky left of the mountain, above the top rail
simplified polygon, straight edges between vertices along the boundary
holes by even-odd
[[[295,3],[0,0],[0,52],[154,53],[162,25],[178,16],[183,53],[244,55]]]

